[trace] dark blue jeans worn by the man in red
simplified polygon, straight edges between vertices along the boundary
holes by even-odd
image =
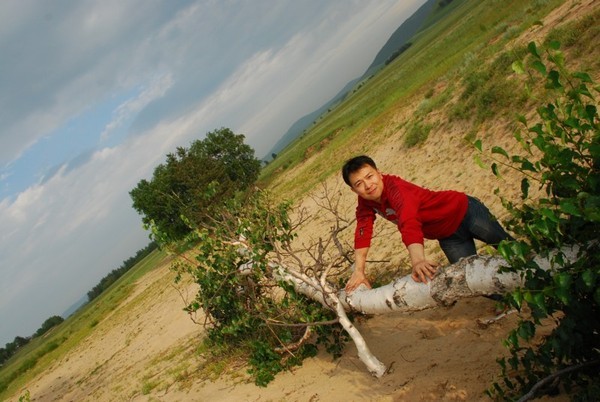
[[[467,213],[456,232],[449,237],[439,239],[440,247],[451,264],[462,257],[477,254],[474,239],[493,247],[498,247],[498,243],[502,240],[512,239],[481,201],[470,196],[468,198]]]

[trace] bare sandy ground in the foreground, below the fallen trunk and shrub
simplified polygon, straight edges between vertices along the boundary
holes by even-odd
[[[495,358],[516,315],[482,328],[494,303],[485,298],[452,307],[361,319],[357,327],[391,372],[371,377],[352,343],[333,360],[326,353],[258,388],[241,368],[216,381],[194,373],[202,327],[181,308],[162,267],[140,291],[97,325],[97,332],[27,386],[35,401],[430,401],[484,400],[498,373]],[[193,288],[190,288],[192,295]],[[185,380],[181,380],[185,373]]]

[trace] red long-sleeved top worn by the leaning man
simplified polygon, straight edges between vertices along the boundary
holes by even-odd
[[[458,191],[432,191],[398,176],[383,175],[381,204],[358,197],[354,248],[371,245],[378,213],[398,225],[406,246],[423,238],[443,239],[453,234],[467,213],[468,199]]]

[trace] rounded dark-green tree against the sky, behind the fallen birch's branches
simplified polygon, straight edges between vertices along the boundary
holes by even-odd
[[[226,199],[250,187],[259,172],[260,161],[244,136],[221,128],[189,149],[168,154],[152,180],[141,180],[129,194],[144,225],[179,240],[190,232],[190,222],[210,219]]]

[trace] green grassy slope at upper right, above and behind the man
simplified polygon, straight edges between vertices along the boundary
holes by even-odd
[[[516,84],[506,77],[526,46],[512,41],[562,3],[456,0],[438,9],[407,51],[358,84],[344,102],[263,169],[263,186],[296,199],[337,173],[348,157],[368,153],[381,138],[404,130],[407,147],[424,141],[432,126],[439,124],[439,117],[428,119],[436,109],[444,109],[448,120],[468,120],[473,130],[492,116],[512,115],[525,99],[514,96]],[[592,48],[597,43],[597,20],[596,13],[584,26],[567,26],[552,35],[580,47],[575,56],[593,64],[588,57],[597,54]],[[595,60],[591,67],[597,68]],[[404,108],[414,114],[410,119],[396,118]],[[294,179],[279,181],[285,171],[295,171]]]

